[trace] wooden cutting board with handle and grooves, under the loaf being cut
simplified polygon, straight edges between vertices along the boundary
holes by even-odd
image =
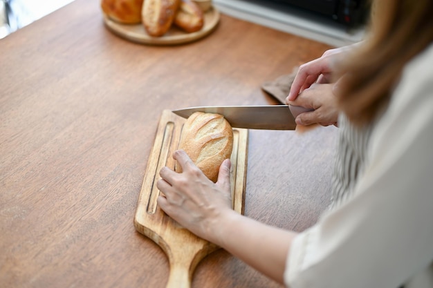
[[[174,169],[172,154],[178,148],[185,119],[163,111],[154,146],[151,149],[145,178],[143,180],[138,207],[134,218],[136,230],[154,240],[167,254],[169,278],[167,288],[191,287],[192,274],[197,264],[209,253],[219,249],[215,244],[203,240],[184,229],[169,218],[156,204],[160,191],[156,182],[163,166]],[[233,209],[243,213],[245,200],[246,166],[248,153],[248,129],[233,129],[233,152],[231,156]]]

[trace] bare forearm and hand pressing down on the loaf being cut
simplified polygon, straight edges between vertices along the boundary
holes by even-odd
[[[247,218],[232,209],[230,160],[219,169],[218,181],[210,181],[185,151],[175,151],[183,172],[167,167],[157,186],[158,205],[165,213],[201,238],[222,247],[261,273],[282,283],[286,257],[296,233]]]

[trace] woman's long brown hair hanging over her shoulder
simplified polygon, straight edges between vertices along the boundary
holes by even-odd
[[[335,93],[340,108],[355,124],[374,118],[389,101],[407,61],[433,41],[432,0],[372,2],[367,39],[336,64],[340,81]]]

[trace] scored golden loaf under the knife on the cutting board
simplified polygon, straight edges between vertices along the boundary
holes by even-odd
[[[232,126],[222,115],[196,112],[183,125],[179,148],[210,180],[216,182],[219,166],[232,155]],[[177,163],[175,171],[182,172]]]

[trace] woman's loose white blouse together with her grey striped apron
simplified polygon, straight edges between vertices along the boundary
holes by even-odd
[[[433,287],[433,45],[373,126],[340,117],[333,204],[292,242],[291,288]]]

